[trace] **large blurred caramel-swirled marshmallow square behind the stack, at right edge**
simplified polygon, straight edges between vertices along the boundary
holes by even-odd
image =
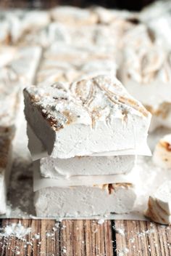
[[[159,126],[171,127],[171,55],[160,45],[143,45],[146,36],[139,39],[137,44],[136,40],[130,40],[130,44],[127,41],[120,79],[128,92],[152,113],[151,131]]]

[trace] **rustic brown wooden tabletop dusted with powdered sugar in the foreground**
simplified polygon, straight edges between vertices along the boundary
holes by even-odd
[[[1,220],[30,227],[23,239],[2,237],[0,255],[170,256],[171,227],[131,220]]]

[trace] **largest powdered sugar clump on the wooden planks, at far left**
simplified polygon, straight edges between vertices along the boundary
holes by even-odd
[[[0,229],[0,237],[14,236],[17,239],[22,239],[30,232],[31,228],[25,228],[21,223],[12,223],[11,225],[6,225],[4,228]]]

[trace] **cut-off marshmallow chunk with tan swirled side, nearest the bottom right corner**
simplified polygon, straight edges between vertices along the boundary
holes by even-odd
[[[153,196],[149,196],[146,216],[161,224],[171,224],[171,181],[159,186]]]

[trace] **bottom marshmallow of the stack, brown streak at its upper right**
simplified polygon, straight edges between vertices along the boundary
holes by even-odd
[[[38,217],[91,217],[133,210],[136,195],[130,183],[42,188],[35,193]]]

